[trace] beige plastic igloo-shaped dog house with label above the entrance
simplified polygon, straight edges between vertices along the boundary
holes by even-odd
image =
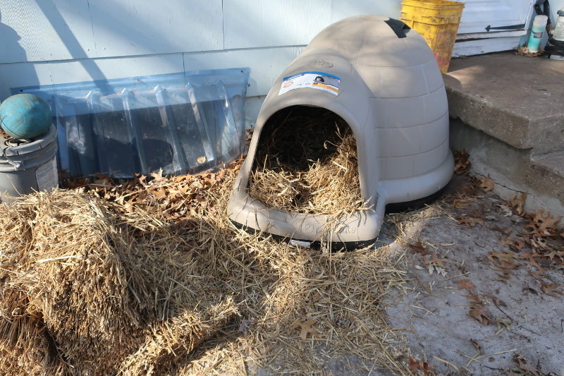
[[[357,141],[362,199],[373,208],[340,218],[333,231],[327,231],[323,215],[276,210],[247,194],[265,123],[293,106],[333,111]],[[452,175],[446,91],[431,49],[399,20],[356,16],[319,32],[274,83],[259,111],[228,215],[247,231],[295,245],[326,241],[355,248],[374,242],[386,205],[434,195]]]

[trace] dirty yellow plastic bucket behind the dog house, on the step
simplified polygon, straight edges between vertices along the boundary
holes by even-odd
[[[403,0],[401,20],[419,32],[435,54],[442,73],[448,71],[464,3],[446,0]]]

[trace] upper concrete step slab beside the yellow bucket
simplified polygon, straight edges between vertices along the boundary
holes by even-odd
[[[534,154],[564,150],[564,63],[502,52],[453,59],[451,118]]]

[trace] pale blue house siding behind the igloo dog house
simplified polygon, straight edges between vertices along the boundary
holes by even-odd
[[[321,29],[399,13],[400,0],[0,0],[0,100],[12,87],[245,66],[252,123]]]

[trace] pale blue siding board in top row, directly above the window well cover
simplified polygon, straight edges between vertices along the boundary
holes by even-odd
[[[223,49],[221,0],[89,4],[97,57]]]

